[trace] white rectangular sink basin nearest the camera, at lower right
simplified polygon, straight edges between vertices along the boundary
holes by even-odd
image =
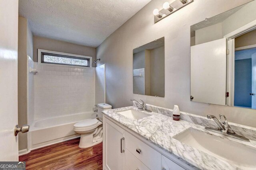
[[[226,160],[239,168],[246,170],[255,170],[256,168],[256,149],[253,147],[193,128],[187,129],[173,138],[221,160]]]

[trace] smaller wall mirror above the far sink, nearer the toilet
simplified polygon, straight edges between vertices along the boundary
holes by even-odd
[[[164,37],[133,50],[133,93],[164,97]]]

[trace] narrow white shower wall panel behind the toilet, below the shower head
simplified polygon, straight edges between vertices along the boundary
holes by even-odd
[[[105,103],[105,64],[96,67],[95,71],[95,104]]]

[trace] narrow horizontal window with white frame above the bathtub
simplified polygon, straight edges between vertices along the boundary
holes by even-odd
[[[91,68],[92,57],[38,49],[38,64]]]

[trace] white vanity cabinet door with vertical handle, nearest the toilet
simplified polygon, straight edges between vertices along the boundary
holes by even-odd
[[[125,131],[115,123],[103,118],[103,164],[106,170],[124,169],[124,139]]]

